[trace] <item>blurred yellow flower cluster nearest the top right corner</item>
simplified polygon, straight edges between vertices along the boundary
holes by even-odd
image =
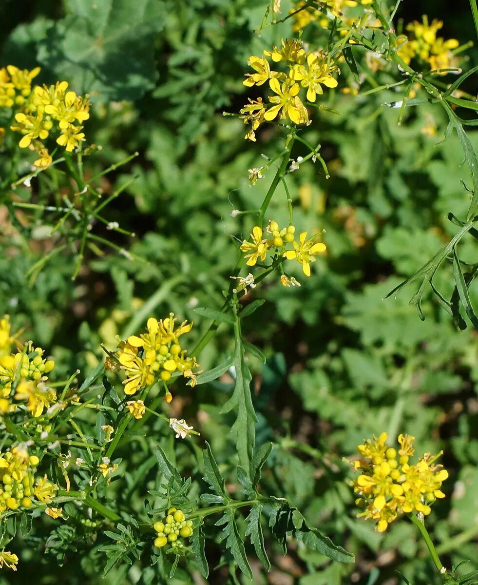
[[[428,24],[427,16],[422,16],[422,22],[414,20],[407,26],[411,37],[401,35],[397,38],[397,53],[407,63],[412,59],[420,59],[429,64],[431,70],[441,70],[458,67],[458,57],[453,54],[453,49],[459,46],[456,39],[445,40],[437,37],[437,32],[443,26],[441,20],[434,19]],[[446,71],[443,73],[446,74]]]

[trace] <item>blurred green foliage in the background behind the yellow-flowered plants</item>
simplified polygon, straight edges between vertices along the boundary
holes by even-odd
[[[257,143],[247,143],[243,123],[222,115],[224,110],[238,112],[246,98],[253,97],[242,84],[248,57],[290,35],[290,21],[265,29],[261,38],[255,35],[267,4],[32,0],[25,9],[11,1],[0,6],[1,66],[40,65],[40,82],[65,78],[74,90],[91,94],[92,116],[85,133],[88,143],[101,145],[102,150],[88,157],[89,177],[138,153],[101,183],[103,197],[126,185],[105,215],[135,236],[109,232],[101,223],[92,225],[92,233],[116,249],[101,246],[101,256],[86,250],[74,281],[76,259],[71,249],[37,264],[63,241],[52,233],[61,215],[25,209],[22,215],[18,209],[8,215],[12,198],[51,202],[55,185],[41,175],[31,188],[19,185],[0,201],[0,314],[11,314],[15,329],[24,327],[26,338],[47,347],[55,356],[58,379],[79,368],[81,384],[103,357],[100,343],[114,349],[115,335],[137,333],[150,315],[160,318],[172,311],[180,319],[195,321],[188,335],[193,347],[210,324],[194,308],[217,310],[223,304],[221,291],[229,285],[240,240],[253,225],[251,216],[233,218],[230,213],[261,204],[273,169],[250,187],[248,168],[264,164],[262,153],[272,157],[282,149],[279,132],[268,128],[258,133]],[[452,10],[445,2],[409,4],[404,2],[397,12],[404,22],[428,13],[430,19],[444,20],[445,37],[462,43],[475,38],[467,3]],[[289,7],[283,0],[284,15]],[[476,64],[476,49],[467,55],[470,68]],[[476,95],[477,89],[475,75],[466,90]],[[250,558],[252,580],[241,573],[230,576],[233,561],[220,541],[234,535],[224,531],[220,536],[220,528],[206,525],[209,583],[393,585],[400,579],[397,571],[414,585],[438,583],[411,524],[395,522],[379,535],[372,524],[355,518],[347,485],[351,472],[341,457],[351,456],[364,438],[384,430],[390,437],[411,433],[418,452],[444,450],[450,479],[444,484],[446,499],[431,515],[435,543],[447,567],[476,559],[476,331],[463,310],[467,328],[459,331],[428,292],[421,305],[425,321],[420,321],[408,304],[413,284],[397,298],[383,300],[458,232],[446,213],[466,216],[469,198],[460,179],[471,186],[470,176],[460,167],[458,137],[442,140],[448,120],[439,106],[407,108],[398,126],[399,111],[383,105],[395,99],[399,98],[394,90],[366,99],[332,92],[327,105],[340,116],[323,112],[303,134],[310,143],[321,144],[330,178],[310,161],[288,178],[294,223],[310,233],[325,228],[327,257],[313,264],[307,280],[297,271],[301,288],[283,288],[275,276],[258,285],[243,304],[266,302],[244,318],[241,333],[236,331],[234,337],[233,325],[221,325],[199,356],[204,370],[231,358],[237,364],[237,389],[241,384],[237,355],[244,351],[243,340],[264,353],[265,364],[253,356],[248,362],[250,400],[258,418],[256,442],[273,443],[261,490],[288,498],[291,510],[296,507],[307,518],[303,525],[296,510],[296,541],[289,543],[284,559],[270,538],[265,538],[263,552],[262,529],[266,534],[269,528],[263,522],[261,529],[261,504],[251,508],[247,530],[253,533],[259,558],[265,555],[272,565],[266,573],[254,564],[253,547],[247,543],[244,556]],[[438,128],[436,136],[422,132],[431,118]],[[469,138],[477,150],[473,129]],[[295,157],[306,156],[305,148],[303,152],[300,145],[296,148]],[[7,168],[0,150],[2,180]],[[19,170],[26,174],[29,163],[20,161]],[[280,225],[288,221],[280,187],[268,218]],[[74,240],[73,220],[68,229]],[[476,240],[463,239],[459,254],[463,262],[476,263]],[[445,260],[434,284],[446,299],[452,297],[451,261]],[[478,307],[476,281],[469,294]],[[148,491],[171,481],[164,466],[158,467],[158,446],[183,479],[196,478],[195,497],[207,491],[200,455],[205,441],[229,493],[240,493],[235,468],[247,466],[250,459],[248,438],[239,450],[231,440],[231,428],[233,435],[236,430],[234,409],[244,394],[235,393],[230,370],[193,390],[178,384],[174,395],[170,407],[158,402],[160,408],[194,424],[200,438],[180,443],[164,423],[150,421],[147,433],[137,430],[119,450],[127,463],[123,469],[127,490],[116,487],[115,479],[110,490],[119,508],[138,521],[145,510],[161,505]],[[238,418],[237,425],[241,424],[243,419]],[[247,493],[247,486],[243,488]],[[149,553],[131,566],[112,567],[105,579],[99,577],[106,563],[102,547],[111,541],[102,530],[86,526],[77,507],[68,506],[71,523],[47,518],[30,535],[22,529],[15,550],[21,558],[18,573],[5,577],[2,572],[0,583],[24,583],[32,574],[42,585],[65,576],[73,585],[205,582],[194,563],[182,561],[169,579],[170,559],[150,558]],[[241,534],[247,516],[243,512],[235,514],[235,530]],[[231,531],[233,524],[226,528]],[[331,563],[319,545],[304,546],[314,534],[307,526],[353,552],[355,564]],[[127,543],[129,536],[122,538]],[[144,542],[134,546],[141,552]],[[134,546],[127,549],[133,556]],[[463,571],[476,568],[472,565]]]

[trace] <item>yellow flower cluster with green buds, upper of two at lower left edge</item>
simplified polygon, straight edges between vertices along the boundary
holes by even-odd
[[[16,353],[12,353],[15,343]],[[43,357],[44,350],[29,341],[22,345],[11,336],[8,316],[0,320],[0,415],[13,412],[19,403],[36,418],[56,402],[56,392],[46,385],[54,360]]]

